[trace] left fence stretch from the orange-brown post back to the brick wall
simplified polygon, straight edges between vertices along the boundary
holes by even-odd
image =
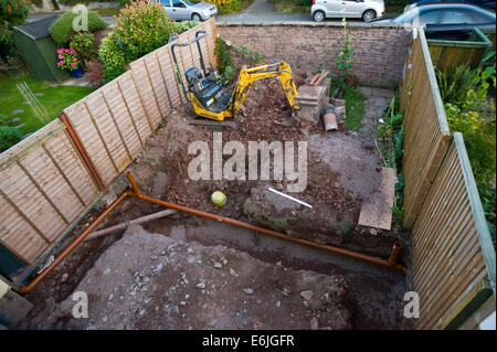
[[[181,33],[177,42],[193,39],[199,30],[208,33],[200,42],[205,66],[215,65],[214,19]],[[197,45],[177,47],[176,56],[186,83],[186,70],[200,68]],[[135,159],[171,109],[183,103],[171,44],[167,44],[133,62],[128,72],[66,108],[64,115],[107,186]]]

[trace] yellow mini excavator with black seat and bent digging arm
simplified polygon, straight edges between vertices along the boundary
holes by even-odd
[[[225,118],[234,118],[242,107],[253,82],[269,77],[279,78],[293,111],[298,111],[300,109],[297,103],[298,95],[292,68],[286,62],[262,65],[253,68],[242,68],[236,85],[234,85],[233,88],[225,87],[221,82],[218,71],[212,67],[212,64],[209,68],[205,68],[202,50],[200,47],[200,40],[205,35],[205,31],[198,31],[194,39],[186,43],[172,42],[171,45],[178,81],[180,82],[187,100],[192,104],[193,111],[197,116],[218,121],[223,121]],[[197,43],[202,72],[198,67],[190,67],[186,71],[184,77],[188,83],[187,92],[179,72],[175,49],[177,46],[189,46],[193,43]]]

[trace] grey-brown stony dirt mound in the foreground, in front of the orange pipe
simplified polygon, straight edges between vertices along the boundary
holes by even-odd
[[[55,329],[350,329],[341,276],[268,265],[131,226],[49,318]],[[313,321],[313,322],[311,322]]]

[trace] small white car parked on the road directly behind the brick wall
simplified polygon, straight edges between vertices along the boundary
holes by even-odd
[[[383,12],[383,0],[313,0],[310,8],[316,22],[328,18],[352,18],[369,22],[382,17]]]

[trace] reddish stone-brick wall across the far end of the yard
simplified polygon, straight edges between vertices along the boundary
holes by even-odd
[[[286,61],[292,68],[328,70],[337,73],[335,60],[342,44],[341,24],[295,22],[285,24],[218,23],[218,34],[241,46],[255,50],[264,63]],[[353,41],[352,72],[361,84],[396,86],[402,75],[411,32],[401,26],[348,24]],[[294,68],[294,70],[295,70]]]

